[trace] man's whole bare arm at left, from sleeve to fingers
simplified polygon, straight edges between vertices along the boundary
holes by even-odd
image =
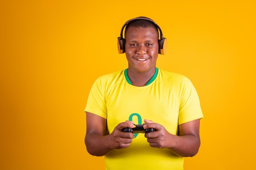
[[[86,135],[85,145],[91,155],[104,156],[113,149],[127,148],[130,146],[134,135],[123,132],[125,127],[133,127],[133,121],[125,121],[118,124],[109,134],[107,132],[106,119],[86,113]]]

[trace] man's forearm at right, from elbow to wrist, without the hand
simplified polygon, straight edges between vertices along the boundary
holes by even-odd
[[[200,147],[200,138],[194,135],[184,135],[176,136],[172,135],[171,137],[172,145],[170,149],[176,155],[182,157],[193,157],[198,153]]]

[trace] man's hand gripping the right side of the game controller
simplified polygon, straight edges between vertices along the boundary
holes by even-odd
[[[154,128],[156,131],[148,132],[145,137],[148,138],[147,141],[151,147],[154,148],[171,148],[172,135],[164,128],[164,126],[154,123],[151,120],[145,119],[146,123],[143,127]]]

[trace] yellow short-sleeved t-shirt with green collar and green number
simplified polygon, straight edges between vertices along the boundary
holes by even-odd
[[[149,84],[132,86],[126,70],[103,75],[93,84],[85,111],[108,122],[111,133],[117,124],[149,119],[178,135],[178,125],[203,117],[198,94],[183,75],[157,68]],[[106,170],[182,170],[183,157],[171,150],[150,147],[144,134],[135,134],[128,148],[105,155]]]

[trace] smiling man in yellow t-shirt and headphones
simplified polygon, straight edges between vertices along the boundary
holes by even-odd
[[[128,68],[103,75],[92,86],[85,145],[91,155],[105,156],[106,170],[182,170],[183,157],[198,152],[203,117],[198,94],[188,78],[156,67],[161,41],[166,40],[153,20],[129,20],[119,38]],[[155,131],[123,131],[134,124]]]

